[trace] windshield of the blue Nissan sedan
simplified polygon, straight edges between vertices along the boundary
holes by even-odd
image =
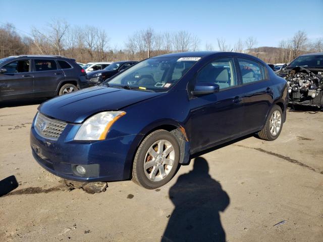
[[[165,92],[199,59],[200,57],[150,58],[134,65],[107,82],[111,87]]]

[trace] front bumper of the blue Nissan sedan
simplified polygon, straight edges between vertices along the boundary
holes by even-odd
[[[126,135],[102,141],[74,141],[78,125],[68,124],[57,141],[39,136],[32,125],[30,145],[35,160],[47,171],[76,181],[114,181],[130,178],[133,143],[139,137]],[[140,138],[139,138],[140,139]],[[77,174],[76,165],[86,168]]]

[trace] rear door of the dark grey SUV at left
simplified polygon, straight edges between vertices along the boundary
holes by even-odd
[[[65,80],[64,72],[58,68],[55,59],[34,59],[35,97],[58,95],[59,84]]]

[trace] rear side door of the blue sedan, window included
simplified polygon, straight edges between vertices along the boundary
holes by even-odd
[[[248,58],[237,58],[244,94],[244,131],[260,129],[274,101],[273,84],[265,67]]]

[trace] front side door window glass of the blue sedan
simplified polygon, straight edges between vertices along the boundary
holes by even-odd
[[[196,82],[215,83],[220,89],[238,85],[233,58],[221,58],[208,63],[198,72]]]

